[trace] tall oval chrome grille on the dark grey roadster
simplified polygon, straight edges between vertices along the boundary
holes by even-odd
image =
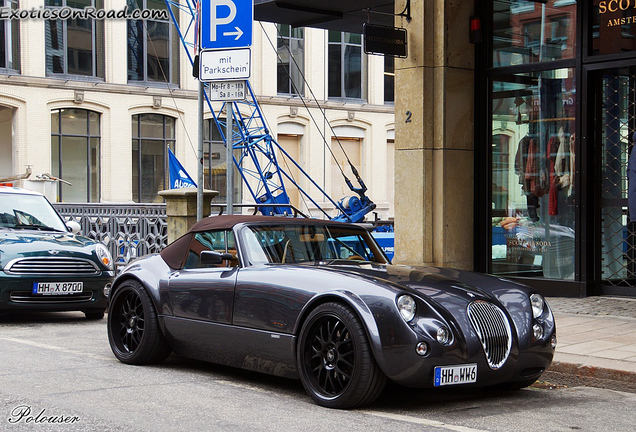
[[[499,369],[508,359],[512,332],[506,315],[492,303],[475,301],[468,305],[468,317],[479,335],[491,369]]]

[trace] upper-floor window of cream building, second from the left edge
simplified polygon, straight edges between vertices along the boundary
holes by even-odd
[[[47,9],[103,9],[102,0],[46,0]],[[46,74],[104,78],[104,21],[45,20]]]

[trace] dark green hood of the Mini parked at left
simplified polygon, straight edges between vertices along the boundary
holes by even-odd
[[[42,255],[90,259],[94,245],[93,240],[72,233],[3,229],[0,230],[0,268],[16,258]]]

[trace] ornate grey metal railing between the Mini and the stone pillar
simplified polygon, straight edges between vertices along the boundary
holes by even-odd
[[[65,221],[75,221],[82,235],[103,243],[116,266],[160,252],[168,244],[165,204],[68,204],[53,207]]]

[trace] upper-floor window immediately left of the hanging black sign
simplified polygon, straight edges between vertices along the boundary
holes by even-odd
[[[362,56],[362,35],[329,30],[329,98],[364,99],[366,65]]]

